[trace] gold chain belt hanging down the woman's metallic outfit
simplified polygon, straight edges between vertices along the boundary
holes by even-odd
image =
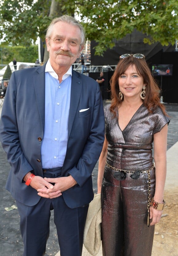
[[[106,161],[106,165],[110,167],[111,169],[117,171],[117,172],[124,172],[124,173],[134,173],[134,171],[127,171],[127,170],[122,170],[122,169],[117,169],[111,165],[109,165]],[[155,164],[153,163],[152,167],[149,170],[145,171],[139,171],[140,173],[148,173],[148,204],[147,204],[147,209],[148,209],[148,217],[147,217],[147,225],[149,226],[149,208],[151,204],[151,179],[150,179],[150,171],[155,167]]]

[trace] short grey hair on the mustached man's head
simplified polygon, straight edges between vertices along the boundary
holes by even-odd
[[[54,18],[51,22],[51,24],[48,26],[47,31],[46,31],[46,38],[50,39],[50,36],[52,34],[52,28],[54,26],[54,24],[56,24],[57,22],[65,22],[68,24],[71,24],[73,26],[77,26],[80,29],[80,34],[81,34],[81,46],[85,45],[85,30],[83,28],[83,26],[72,16],[69,15],[63,15],[61,17],[58,18]]]

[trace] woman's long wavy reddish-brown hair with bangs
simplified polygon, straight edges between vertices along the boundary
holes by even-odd
[[[151,71],[145,62],[145,59],[137,59],[134,58],[133,55],[121,59],[114,71],[113,76],[110,79],[110,91],[111,91],[111,106],[110,112],[116,116],[116,109],[122,104],[124,100],[124,95],[122,100],[119,98],[119,77],[126,71],[129,66],[134,66],[140,76],[143,78],[143,84],[146,84],[145,89],[145,99],[143,100],[143,104],[148,109],[150,113],[153,113],[154,108],[157,106],[160,107],[164,113],[164,115],[168,116],[165,112],[165,107],[160,103],[160,89],[154,80]]]

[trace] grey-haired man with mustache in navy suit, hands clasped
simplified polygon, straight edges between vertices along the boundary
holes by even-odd
[[[45,254],[51,210],[61,256],[81,256],[92,171],[104,142],[98,83],[72,70],[85,44],[73,17],[52,20],[49,59],[13,72],[4,100],[0,140],[11,165],[6,189],[15,198],[23,256]]]

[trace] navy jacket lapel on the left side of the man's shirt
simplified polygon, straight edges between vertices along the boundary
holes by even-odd
[[[41,125],[44,132],[44,118],[45,118],[45,67],[43,65],[37,69],[37,75],[33,76],[33,83],[37,99],[38,111],[41,119]]]

